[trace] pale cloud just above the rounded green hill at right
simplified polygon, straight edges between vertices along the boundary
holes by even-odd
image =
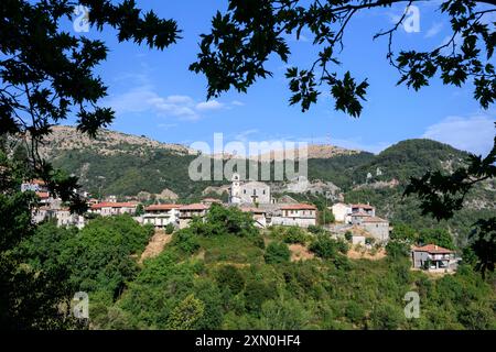
[[[493,146],[495,121],[495,118],[489,116],[448,117],[430,125],[422,136],[486,155]]]

